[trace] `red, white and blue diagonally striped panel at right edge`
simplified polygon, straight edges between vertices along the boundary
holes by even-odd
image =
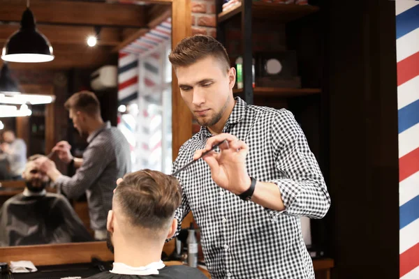
[[[396,0],[399,278],[419,278],[419,1]]]

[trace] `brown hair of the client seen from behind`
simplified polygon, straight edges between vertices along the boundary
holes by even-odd
[[[162,172],[142,169],[124,176],[114,195],[132,225],[163,229],[182,200],[179,181]]]

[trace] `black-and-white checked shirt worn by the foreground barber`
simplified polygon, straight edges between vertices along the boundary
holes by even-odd
[[[247,105],[242,99],[223,133],[249,145],[247,172],[258,181],[277,184],[285,211],[274,211],[223,190],[210,167],[198,160],[177,175],[182,220],[192,211],[200,227],[205,264],[212,278],[314,279],[313,263],[302,238],[300,216],[323,218],[330,196],[302,129],[288,110]],[[193,158],[211,137],[202,127],[179,150],[172,171]],[[177,233],[180,229],[177,228]]]

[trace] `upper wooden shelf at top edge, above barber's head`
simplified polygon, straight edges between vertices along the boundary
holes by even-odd
[[[277,20],[279,22],[292,22],[293,20],[297,20],[311,13],[316,13],[317,11],[317,6],[310,5],[265,3],[262,1],[253,2],[251,5],[252,17],[266,20]],[[233,17],[241,12],[242,3],[231,10],[219,13],[217,22],[224,22],[230,17]]]

